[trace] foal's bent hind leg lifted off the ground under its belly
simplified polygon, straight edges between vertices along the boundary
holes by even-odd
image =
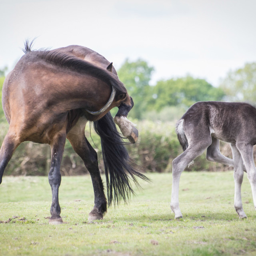
[[[207,148],[206,159],[211,162],[217,162],[234,167],[234,161],[220,153],[219,142],[220,141],[218,139],[212,137],[212,144]],[[246,172],[244,165],[242,168]]]

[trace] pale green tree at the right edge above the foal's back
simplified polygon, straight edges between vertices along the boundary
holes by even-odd
[[[228,72],[220,87],[227,100],[256,102],[256,62]]]

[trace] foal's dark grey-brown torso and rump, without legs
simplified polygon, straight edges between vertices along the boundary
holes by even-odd
[[[182,116],[186,134],[206,134],[236,143],[256,144],[256,108],[242,102],[197,102]]]

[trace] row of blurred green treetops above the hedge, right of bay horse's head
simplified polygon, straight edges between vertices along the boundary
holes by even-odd
[[[219,87],[214,87],[204,79],[190,75],[180,78],[160,80],[150,86],[154,67],[144,60],[125,60],[118,70],[120,80],[136,102],[130,116],[137,119],[150,119],[166,109],[172,112],[188,109],[198,101],[226,100],[256,102],[256,62],[247,63],[238,70],[228,72]],[[175,109],[176,108],[176,109]],[[152,115],[148,113],[153,112]],[[173,114],[166,114],[165,120],[174,120]]]

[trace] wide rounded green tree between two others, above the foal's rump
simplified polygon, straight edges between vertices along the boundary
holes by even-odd
[[[184,78],[161,80],[154,86],[152,108],[161,110],[166,106],[189,107],[198,101],[222,100],[224,92],[206,80],[186,76]]]

